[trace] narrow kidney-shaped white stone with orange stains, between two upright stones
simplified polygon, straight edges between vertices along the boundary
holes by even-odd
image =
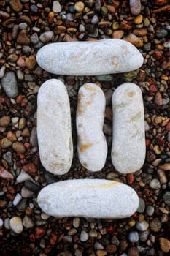
[[[78,94],[76,114],[77,151],[82,166],[90,171],[104,167],[107,142],[103,133],[106,99],[94,83],[83,85]]]

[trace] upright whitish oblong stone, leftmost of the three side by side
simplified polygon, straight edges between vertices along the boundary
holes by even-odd
[[[37,99],[39,157],[54,175],[67,173],[72,165],[72,126],[66,86],[57,79],[47,80]]]

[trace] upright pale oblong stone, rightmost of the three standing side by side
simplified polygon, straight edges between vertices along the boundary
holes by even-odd
[[[144,164],[144,105],[134,83],[123,83],[112,94],[112,164],[120,173],[133,173]]]

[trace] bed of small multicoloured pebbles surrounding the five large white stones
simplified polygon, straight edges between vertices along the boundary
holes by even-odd
[[[0,254],[40,256],[169,255],[170,250],[170,23],[169,0],[0,0]],[[134,8],[133,4],[136,4]],[[139,6],[137,6],[139,4]],[[119,75],[58,76],[36,64],[51,42],[125,39],[144,57],[139,70]],[[36,99],[45,80],[59,78],[69,91],[74,159],[69,173],[53,176],[39,162]],[[136,173],[112,166],[113,91],[136,83],[144,99],[147,154]],[[90,173],[77,159],[77,92],[85,83],[104,91],[104,135],[109,152],[103,170]],[[50,125],[50,124],[49,124]],[[106,178],[131,186],[139,208],[127,219],[56,219],[36,198],[55,181]]]

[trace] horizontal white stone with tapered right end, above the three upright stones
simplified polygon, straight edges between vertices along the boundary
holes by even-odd
[[[103,39],[45,45],[38,51],[36,60],[42,69],[53,74],[102,75],[138,69],[144,59],[130,42]]]

